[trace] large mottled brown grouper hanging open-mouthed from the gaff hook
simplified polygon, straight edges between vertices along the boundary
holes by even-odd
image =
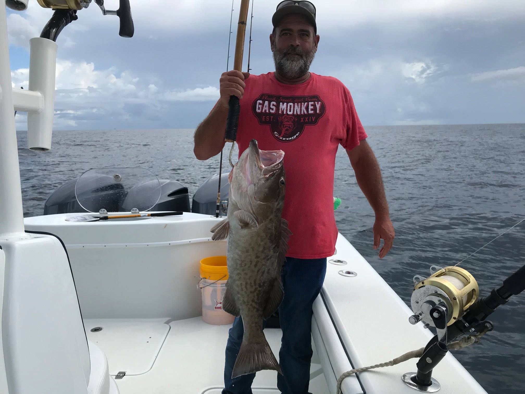
[[[291,232],[281,218],[285,200],[282,150],[259,150],[256,140],[229,175],[228,215],[212,228],[213,240],[227,242],[228,281],[223,310],[242,316],[243,342],[232,378],[262,369],[282,374],[262,332],[262,320],[279,307],[281,269]]]

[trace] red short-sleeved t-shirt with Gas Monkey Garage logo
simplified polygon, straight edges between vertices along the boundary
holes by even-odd
[[[274,72],[250,75],[240,100],[239,155],[255,138],[261,150],[285,152],[286,195],[282,217],[293,233],[287,256],[333,255],[335,153],[366,138],[349,90],[340,80],[311,73],[299,85],[279,82]]]

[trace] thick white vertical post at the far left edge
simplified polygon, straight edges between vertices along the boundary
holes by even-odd
[[[5,0],[0,0],[0,240],[27,237],[12,89]]]

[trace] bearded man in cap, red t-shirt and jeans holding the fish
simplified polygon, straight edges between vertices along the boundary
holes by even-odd
[[[394,227],[381,171],[366,142],[350,92],[341,81],[309,71],[316,54],[316,8],[308,1],[283,1],[272,17],[270,47],[275,72],[251,75],[228,71],[220,77],[220,99],[195,131],[194,153],[207,160],[224,147],[229,98],[240,99],[239,154],[255,138],[259,149],[285,151],[287,186],[282,216],[292,232],[282,270],[279,306],[282,343],[277,387],[283,394],[306,394],[310,379],[312,304],[335,251],[333,213],[335,153],[345,148],[358,184],[375,212],[373,248],[392,247]],[[248,78],[249,77],[249,78]],[[229,330],[223,394],[251,394],[255,374],[232,379],[243,339],[241,317]]]

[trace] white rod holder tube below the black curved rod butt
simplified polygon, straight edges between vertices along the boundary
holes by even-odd
[[[27,144],[30,150],[48,151],[53,136],[58,46],[54,41],[40,37],[31,38],[29,46],[29,90],[42,95],[44,108],[27,114]]]

